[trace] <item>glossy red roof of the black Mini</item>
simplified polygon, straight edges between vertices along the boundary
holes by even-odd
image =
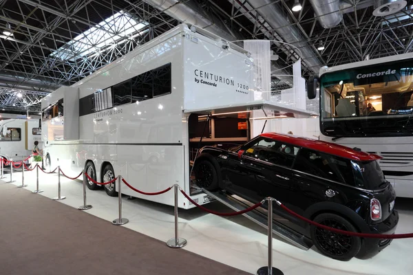
[[[312,138],[308,137],[297,137],[295,135],[283,135],[279,133],[262,133],[260,136],[268,137],[273,140],[279,140],[280,142],[286,142],[291,145],[309,148],[322,153],[337,155],[338,157],[345,157],[347,159],[357,160],[361,162],[381,159],[379,155],[357,151],[350,147],[334,144],[331,142],[313,140]]]

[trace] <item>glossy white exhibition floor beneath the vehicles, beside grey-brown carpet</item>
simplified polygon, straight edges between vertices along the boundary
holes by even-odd
[[[57,174],[46,175],[39,171],[39,175],[39,186],[44,192],[33,196],[56,197]],[[8,181],[8,179],[9,175],[6,174],[3,180]],[[12,184],[21,185],[21,173],[13,173],[13,179],[16,181]],[[36,189],[35,171],[25,172],[25,184],[28,184],[26,187],[28,190]],[[127,187],[123,186],[123,188]],[[169,192],[173,196],[173,190]],[[72,181],[62,176],[61,193],[66,196],[66,199],[56,203],[65,203],[74,208],[83,205],[81,181]],[[399,209],[400,214],[397,233],[413,232],[412,202],[413,199],[396,200],[396,208]],[[91,204],[93,208],[86,212],[105,219],[108,223],[112,223],[112,220],[118,217],[118,198],[107,196],[105,190],[87,189],[87,204]],[[218,201],[211,203],[210,208],[222,212],[229,211]],[[258,268],[267,265],[266,230],[252,221],[242,216],[230,219],[217,217],[200,209],[179,210],[179,214],[180,236],[188,241],[187,246],[182,249],[251,274],[255,274]],[[122,226],[131,230],[165,242],[173,237],[173,207],[142,199],[129,201],[127,197],[123,197],[123,217],[129,219],[129,223]],[[99,233],[102,234],[96,232]],[[315,248],[304,251],[284,241],[273,239],[273,266],[282,270],[285,275],[412,274],[412,255],[413,239],[396,239],[372,259],[352,259],[348,262],[335,261],[322,256]]]

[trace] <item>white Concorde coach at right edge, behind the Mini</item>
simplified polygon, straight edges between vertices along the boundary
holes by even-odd
[[[323,67],[320,140],[383,157],[381,170],[398,197],[413,197],[413,54]]]

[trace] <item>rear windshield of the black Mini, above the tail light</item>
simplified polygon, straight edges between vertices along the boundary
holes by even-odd
[[[387,184],[383,171],[380,168],[379,162],[377,160],[371,162],[353,162],[353,174],[354,180],[359,181],[364,188],[370,190],[376,190],[382,188]],[[358,184],[357,184],[358,185]]]

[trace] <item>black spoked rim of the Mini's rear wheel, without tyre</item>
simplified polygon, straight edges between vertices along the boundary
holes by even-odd
[[[322,225],[336,228],[339,230],[348,231],[345,225],[333,219],[326,219],[321,222]],[[328,230],[317,228],[315,231],[315,238],[321,248],[328,254],[333,256],[346,255],[352,248],[353,240],[351,236],[337,234]]]

